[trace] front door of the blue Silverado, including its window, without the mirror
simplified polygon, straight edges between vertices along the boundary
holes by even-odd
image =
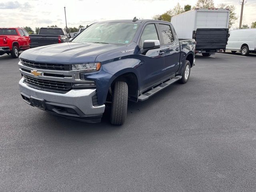
[[[160,34],[154,23],[147,24],[140,36],[139,47],[142,49],[144,40],[160,40]],[[150,86],[164,79],[164,54],[162,47],[148,50],[145,55],[140,55],[143,64],[140,66],[141,87],[146,90]]]

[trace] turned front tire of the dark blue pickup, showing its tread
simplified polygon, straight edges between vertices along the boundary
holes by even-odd
[[[122,125],[126,119],[128,104],[128,85],[117,81],[112,96],[110,122],[113,125]]]

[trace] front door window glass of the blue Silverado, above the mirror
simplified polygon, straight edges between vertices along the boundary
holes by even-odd
[[[139,42],[140,47],[143,47],[144,40],[159,40],[155,24],[149,24],[144,28]]]

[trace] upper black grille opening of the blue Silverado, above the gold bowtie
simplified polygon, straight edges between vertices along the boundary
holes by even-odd
[[[58,71],[69,71],[68,64],[51,64],[51,63],[39,63],[21,59],[22,65],[28,66],[35,69],[46,69],[46,70],[58,70]]]

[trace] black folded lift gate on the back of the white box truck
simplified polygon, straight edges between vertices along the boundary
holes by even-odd
[[[196,49],[226,49],[228,29],[199,28],[195,39]]]

